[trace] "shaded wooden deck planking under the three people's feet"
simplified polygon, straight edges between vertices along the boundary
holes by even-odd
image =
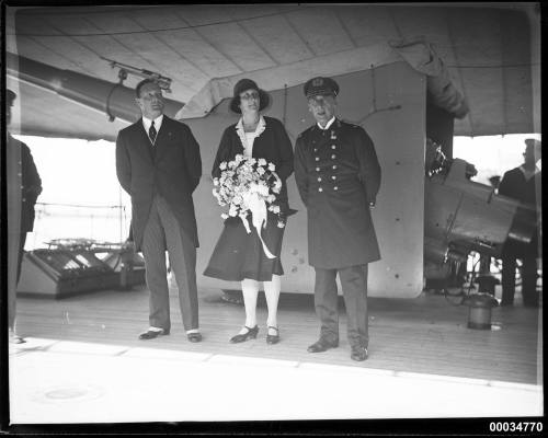
[[[467,328],[468,308],[444,297],[423,293],[416,299],[372,298],[369,303],[369,360],[350,359],[346,320],[341,309],[340,347],[309,354],[319,324],[311,296],[283,295],[278,325],[282,342],[266,345],[266,307],[260,299],[256,341],[232,345],[228,339],[243,323],[243,308],[221,300],[218,290],[201,290],[199,318],[204,342],[186,341],[176,296],[171,296],[172,331],[150,342],[137,339],[148,325],[148,291],[100,291],[62,300],[20,298],[18,327],[22,335],[178,349],[215,355],[260,357],[358,366],[390,371],[444,374],[537,384],[538,310],[493,309],[498,331]],[[452,298],[452,301],[459,299]]]

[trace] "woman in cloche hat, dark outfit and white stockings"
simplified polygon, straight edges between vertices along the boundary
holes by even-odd
[[[255,159],[262,158],[273,163],[276,166],[275,172],[282,180],[277,204],[285,222],[289,212],[285,182],[293,173],[293,148],[282,123],[260,114],[269,105],[269,94],[250,79],[242,79],[235,85],[230,110],[242,116],[237,124],[225,129],[212,174],[214,177],[219,177],[221,173],[219,164],[233,160],[238,153]],[[261,229],[266,247],[276,256],[269,258],[254,227],[250,227],[251,233],[248,234],[239,217],[226,219],[222,233],[204,272],[208,277],[241,283],[246,323],[230,339],[231,343],[256,337],[259,332],[256,297],[260,281],[263,281],[269,308],[266,342],[269,344],[279,342],[277,303],[279,277],[284,274],[279,260],[284,228],[279,228],[277,222],[278,216],[269,211],[266,228]]]

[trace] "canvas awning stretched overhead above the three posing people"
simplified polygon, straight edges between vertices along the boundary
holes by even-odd
[[[416,58],[438,104],[460,115],[467,104],[455,134],[481,136],[535,129],[532,18],[539,23],[535,3],[8,7],[5,36],[10,53],[113,83],[118,70],[103,58],[169,77],[167,96],[187,104],[184,117],[205,115],[242,77],[274,90]],[[424,61],[431,53],[438,57]],[[119,128],[26,83],[9,78],[8,87],[20,95],[15,130],[113,139]]]

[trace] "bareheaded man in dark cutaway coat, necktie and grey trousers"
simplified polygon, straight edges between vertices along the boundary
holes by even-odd
[[[199,342],[198,237],[192,199],[202,176],[199,146],[185,124],[163,115],[162,91],[155,81],[141,81],[136,95],[142,118],[118,134],[116,173],[132,197],[133,238],[136,251],[142,251],[150,289],[150,327],[139,338],[152,339],[171,330],[168,251],[187,338]]]

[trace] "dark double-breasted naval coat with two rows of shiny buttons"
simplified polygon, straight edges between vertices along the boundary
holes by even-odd
[[[380,186],[372,139],[356,125],[335,119],[299,135],[295,180],[307,206],[309,264],[343,268],[380,258],[369,203]]]

